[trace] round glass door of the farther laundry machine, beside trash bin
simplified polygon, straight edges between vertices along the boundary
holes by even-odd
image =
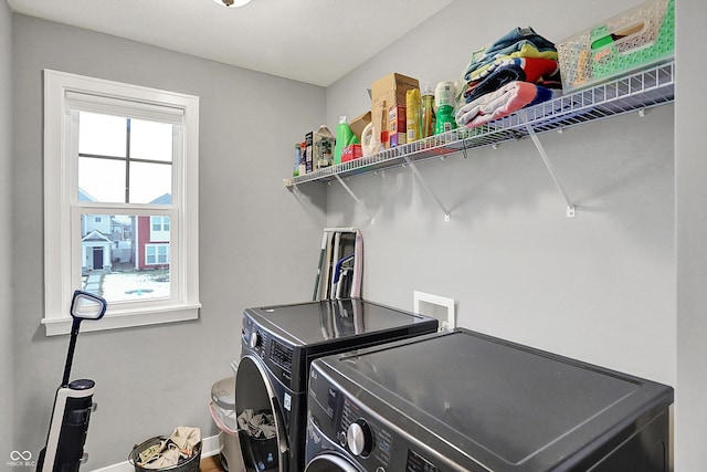
[[[277,470],[288,469],[287,434],[282,418],[282,407],[273,385],[267,376],[265,365],[255,356],[245,355],[235,369],[235,416],[239,418],[246,410],[253,413],[272,412],[275,422],[275,438],[255,439],[245,431],[239,431],[241,451],[246,469]],[[240,428],[239,428],[240,429]]]

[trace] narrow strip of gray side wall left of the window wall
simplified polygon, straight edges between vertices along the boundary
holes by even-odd
[[[12,103],[12,15],[7,2],[0,2],[0,102]],[[0,227],[10,228],[12,223],[12,108],[0,107]],[[0,232],[0,385],[12,385],[12,238],[9,231]],[[12,424],[13,389],[0,388],[0,422],[8,429]],[[12,434],[2,428],[0,434],[0,469],[10,460],[15,449]],[[10,430],[11,431],[11,430]]]

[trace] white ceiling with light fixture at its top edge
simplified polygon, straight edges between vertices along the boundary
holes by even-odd
[[[22,14],[328,86],[453,0],[8,0]]]

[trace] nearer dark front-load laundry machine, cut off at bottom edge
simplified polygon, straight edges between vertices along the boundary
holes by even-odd
[[[667,472],[668,386],[467,329],[316,359],[306,472]]]

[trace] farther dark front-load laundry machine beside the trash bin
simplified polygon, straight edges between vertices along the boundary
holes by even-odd
[[[434,318],[358,298],[245,310],[241,358],[233,366],[235,412],[272,412],[276,432],[270,444],[239,434],[246,468],[304,470],[313,359],[434,333],[437,325]]]

